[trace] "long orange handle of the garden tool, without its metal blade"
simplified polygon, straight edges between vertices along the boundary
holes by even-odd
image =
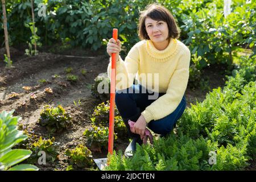
[[[117,40],[117,28],[113,28],[113,38]],[[108,152],[113,154],[114,144],[114,108],[115,108],[115,61],[117,54],[112,53],[112,70],[110,80],[110,109],[109,109],[109,146]]]

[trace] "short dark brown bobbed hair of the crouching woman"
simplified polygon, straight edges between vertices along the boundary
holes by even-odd
[[[169,29],[168,38],[174,38],[174,39],[179,38],[180,30],[175,22],[174,16],[171,14],[171,12],[168,9],[166,9],[166,7],[163,7],[158,3],[153,3],[151,5],[148,5],[146,7],[146,10],[141,11],[141,15],[139,16],[139,26],[138,26],[139,39],[141,40],[150,39],[149,36],[147,35],[146,26],[145,26],[146,18],[151,18],[154,20],[163,20],[168,25],[168,29]]]

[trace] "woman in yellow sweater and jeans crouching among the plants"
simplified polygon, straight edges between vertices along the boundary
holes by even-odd
[[[107,52],[117,53],[115,104],[133,138],[125,156],[133,156],[142,144],[146,127],[166,136],[185,110],[190,51],[181,43],[175,19],[165,7],[152,4],[139,17],[139,38],[125,61],[121,42],[109,40]],[[111,58],[110,58],[111,60]],[[111,61],[108,76],[111,73]],[[134,84],[134,78],[138,85]],[[143,92],[145,91],[146,92]],[[136,122],[130,130],[128,120]]]

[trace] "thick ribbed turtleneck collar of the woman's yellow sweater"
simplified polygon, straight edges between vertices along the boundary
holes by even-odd
[[[175,55],[177,52],[177,40],[172,39],[170,40],[166,49],[159,51],[155,48],[153,42],[151,40],[146,41],[146,50],[147,53],[154,58],[155,61],[166,61],[172,55]]]

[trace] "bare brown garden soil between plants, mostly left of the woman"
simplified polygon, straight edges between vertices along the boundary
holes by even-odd
[[[3,48],[0,55],[3,55]],[[0,61],[0,112],[15,109],[15,115],[22,117],[20,123],[38,136],[49,137],[47,130],[36,124],[40,117],[40,111],[47,104],[62,105],[72,115],[72,126],[67,131],[54,134],[55,142],[59,143],[59,160],[47,165],[38,166],[40,170],[65,170],[68,166],[64,151],[74,148],[77,144],[85,144],[84,130],[91,126],[90,115],[94,107],[101,103],[94,98],[90,91],[90,85],[94,78],[102,72],[106,72],[109,57],[101,52],[76,50],[53,54],[40,52],[37,56],[24,56],[23,51],[11,48],[14,68],[5,69],[5,64]],[[73,55],[67,56],[67,55]],[[75,56],[74,56],[75,55]],[[3,58],[0,57],[2,60]],[[79,76],[79,81],[73,83],[66,80],[64,69],[72,67],[72,74]],[[86,74],[81,73],[86,70]],[[58,75],[59,77],[56,77]],[[209,78],[210,89],[223,87],[225,84],[225,73],[223,68],[212,67],[205,69],[203,77]],[[41,82],[40,82],[41,80]],[[44,80],[42,82],[42,80]],[[31,86],[30,91],[24,90],[23,86]],[[45,88],[50,87],[53,92],[47,93]],[[17,98],[9,99],[8,94],[16,92]],[[187,107],[197,101],[203,101],[207,90],[188,88],[185,92]],[[34,93],[35,99],[31,99]],[[81,104],[75,106],[80,100]],[[129,141],[118,140],[114,146],[115,150],[125,150]],[[106,157],[107,151],[93,152],[93,158]],[[255,165],[255,164],[252,164]],[[255,169],[255,168],[254,168]]]

